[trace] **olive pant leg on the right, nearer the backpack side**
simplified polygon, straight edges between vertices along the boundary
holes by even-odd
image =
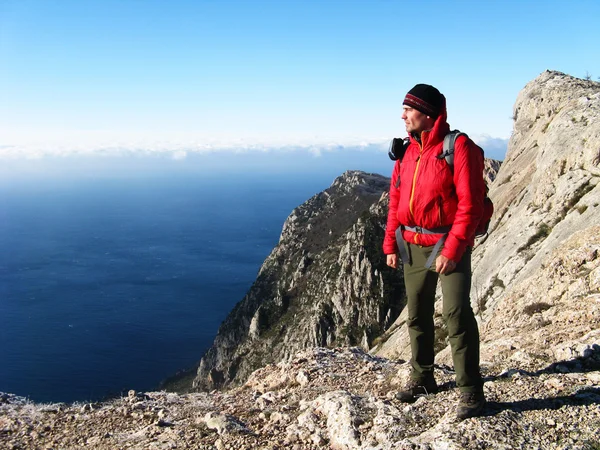
[[[456,384],[462,392],[480,392],[479,329],[471,308],[471,249],[467,248],[456,269],[441,275],[443,314],[452,349]]]

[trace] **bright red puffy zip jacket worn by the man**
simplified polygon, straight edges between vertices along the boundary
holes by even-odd
[[[396,161],[383,241],[386,255],[398,252],[395,232],[400,225],[426,229],[451,226],[441,254],[455,262],[474,244],[486,191],[483,154],[473,141],[459,136],[454,146],[454,169],[443,158],[438,159],[444,136],[450,131],[446,117],[444,108],[433,128],[421,133],[421,143],[411,136],[402,162]],[[406,242],[423,246],[435,245],[442,237],[408,230],[402,236]]]

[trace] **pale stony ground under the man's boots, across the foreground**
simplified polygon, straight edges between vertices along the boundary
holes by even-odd
[[[395,400],[409,364],[357,348],[315,348],[228,392],[136,393],[103,403],[35,404],[0,395],[6,449],[598,449],[600,349],[525,372],[484,367],[483,415],[459,422],[441,392]]]

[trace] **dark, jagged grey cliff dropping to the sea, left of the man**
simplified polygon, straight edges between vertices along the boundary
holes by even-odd
[[[315,346],[369,348],[403,304],[381,252],[389,178],[346,172],[292,211],[193,382],[213,389]]]

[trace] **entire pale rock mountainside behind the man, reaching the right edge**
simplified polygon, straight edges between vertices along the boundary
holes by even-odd
[[[600,225],[600,83],[544,72],[518,95],[514,120],[506,159],[489,192],[495,204],[490,233],[473,252],[471,303],[484,330],[482,339],[489,342],[483,352],[489,348],[490,357],[499,350],[492,341],[504,335],[503,342],[513,351],[527,347],[522,348],[526,354],[519,353],[525,360],[535,359],[535,355],[552,360],[567,356],[558,348],[548,355],[544,339],[554,331],[559,339],[568,337],[584,347],[588,344],[583,342],[597,340],[593,330],[598,323],[591,320],[597,303],[585,298],[596,295],[598,288],[593,280],[586,281],[587,290],[581,287],[581,278],[590,274],[587,269],[578,272],[574,266],[595,267],[596,260],[598,237],[593,227]],[[581,233],[576,243],[564,246],[577,232]],[[585,256],[576,251],[578,246],[589,246]],[[564,260],[557,259],[561,252]],[[552,266],[568,269],[560,269],[564,273],[559,276]],[[548,305],[547,310],[535,312],[531,305],[536,302],[541,309]],[[447,343],[439,303],[435,320],[440,331],[438,348],[442,349]],[[562,308],[553,309],[555,305]],[[562,320],[565,327],[571,327],[580,313],[585,321],[581,327],[572,327],[567,334],[560,331]],[[530,339],[536,335],[531,331],[537,329],[531,320],[546,324],[547,332],[537,343]],[[405,321],[406,313],[373,352],[410,358]],[[509,334],[512,337],[507,337]],[[448,349],[437,360],[450,363]]]

